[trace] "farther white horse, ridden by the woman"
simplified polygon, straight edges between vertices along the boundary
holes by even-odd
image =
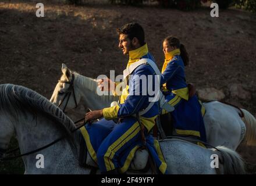
[[[61,82],[56,84],[55,90],[50,101],[60,105],[61,109],[70,110],[76,107],[76,102],[82,103],[87,110],[99,110],[109,107],[111,102],[118,98],[112,95],[97,94],[97,81],[81,76],[80,74],[70,71],[66,65],[62,65]],[[73,74],[73,75],[72,75]],[[74,78],[72,80],[72,77]],[[70,84],[66,81],[73,81],[74,91],[70,91]],[[69,100],[64,99],[67,91],[70,92]],[[74,101],[76,99],[76,102]],[[243,110],[243,119],[239,116],[240,110],[224,103],[213,101],[203,103],[206,109],[204,124],[207,135],[207,141],[212,146],[226,146],[227,148],[236,149],[242,140],[247,145],[256,145],[256,119],[247,110]]]

